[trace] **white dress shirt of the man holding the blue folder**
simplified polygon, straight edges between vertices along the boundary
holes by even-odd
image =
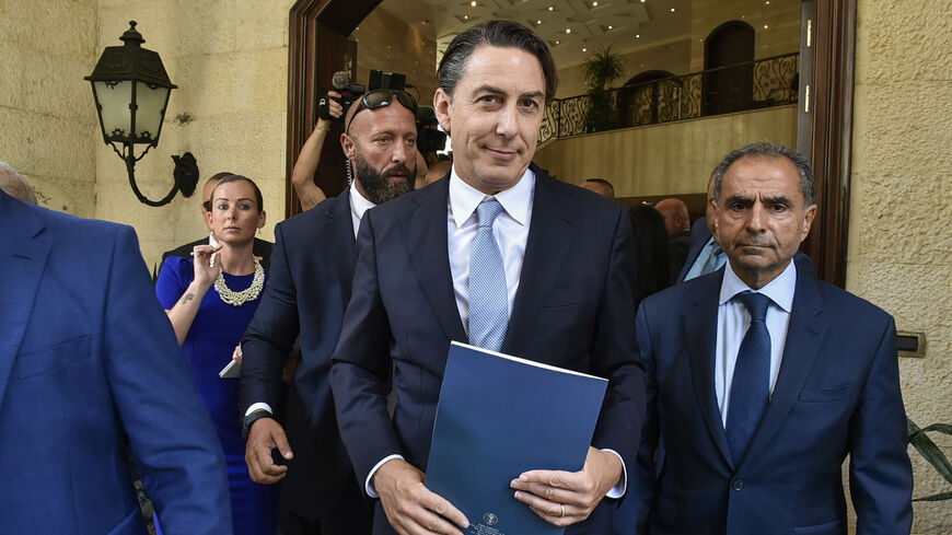
[[[450,198],[446,207],[446,239],[450,252],[450,272],[453,277],[453,293],[456,298],[456,309],[466,334],[469,334],[469,253],[473,240],[479,228],[479,217],[476,207],[485,199],[496,198],[502,205],[502,211],[492,224],[492,235],[502,254],[502,266],[506,270],[506,289],[509,301],[509,315],[512,315],[512,303],[519,289],[519,278],[522,275],[522,261],[525,257],[525,244],[529,241],[529,226],[532,220],[532,200],[535,193],[535,173],[525,170],[522,178],[509,189],[496,195],[486,195],[463,182],[453,166],[450,172]],[[622,455],[612,452],[622,461],[622,479],[606,495],[608,498],[620,498],[628,486],[628,468]],[[373,487],[373,475],[384,463],[393,458],[404,458],[403,455],[387,455],[371,468],[364,481],[367,495],[376,498]]]

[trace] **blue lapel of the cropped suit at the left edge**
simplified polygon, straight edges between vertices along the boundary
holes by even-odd
[[[34,239],[43,229],[43,221],[26,206],[0,193],[0,405],[49,254],[49,244]]]

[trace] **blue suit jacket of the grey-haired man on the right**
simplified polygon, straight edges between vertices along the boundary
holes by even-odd
[[[648,420],[622,534],[845,535],[849,455],[859,535],[908,534],[913,474],[889,314],[797,270],[770,404],[747,454],[727,442],[715,392],[723,270],[646,299],[638,345]],[[655,455],[657,453],[657,455]]]

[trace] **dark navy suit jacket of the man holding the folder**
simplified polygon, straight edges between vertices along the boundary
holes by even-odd
[[[501,350],[611,379],[592,444],[618,452],[630,470],[645,403],[631,224],[622,205],[532,168],[531,226]],[[373,209],[360,228],[353,296],[330,377],[361,486],[391,454],[426,469],[450,341],[467,341],[450,271],[448,196],[443,178]],[[376,512],[374,533],[393,533],[382,508]]]

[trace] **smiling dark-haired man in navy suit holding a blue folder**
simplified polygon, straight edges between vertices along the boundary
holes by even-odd
[[[452,139],[453,168],[361,224],[330,371],[341,437],[360,484],[380,497],[375,534],[461,533],[468,520],[426,488],[422,469],[450,342],[490,347],[475,335],[492,316],[496,349],[611,380],[583,470],[539,466],[500,481],[545,521],[591,533],[609,523],[600,505],[606,495],[625,492],[643,412],[627,212],[531,163],[557,80],[530,30],[507,21],[471,27],[450,44],[438,75],[434,108]],[[471,268],[476,236],[487,232],[498,255],[491,306]]]

